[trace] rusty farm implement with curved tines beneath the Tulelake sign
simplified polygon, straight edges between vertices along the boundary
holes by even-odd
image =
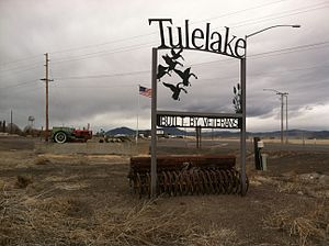
[[[241,194],[241,175],[235,164],[235,156],[158,157],[157,192],[169,195]],[[150,157],[132,157],[128,178],[139,198],[150,195]],[[247,190],[248,187],[246,177]]]

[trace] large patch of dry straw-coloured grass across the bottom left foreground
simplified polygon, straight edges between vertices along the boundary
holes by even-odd
[[[203,228],[182,209],[160,213],[156,200],[124,211],[45,194],[49,192],[30,197],[25,189],[2,187],[0,245],[239,245],[235,232]]]

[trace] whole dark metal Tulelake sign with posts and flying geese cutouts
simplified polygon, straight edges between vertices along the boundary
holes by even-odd
[[[157,126],[240,130],[241,194],[246,194],[246,48],[245,38],[230,33],[213,30],[211,23],[192,27],[189,20],[183,26],[174,26],[172,19],[149,19],[149,25],[157,25],[160,45],[152,48],[151,66],[151,194],[157,190]],[[158,64],[159,49],[168,49]],[[191,80],[198,79],[192,67],[184,67],[183,52],[193,49],[229,56],[240,62],[240,81],[234,88],[235,113],[160,111],[157,107],[157,88],[162,83],[168,88],[173,100],[180,101],[182,93],[188,93]],[[171,78],[168,82],[167,78]]]

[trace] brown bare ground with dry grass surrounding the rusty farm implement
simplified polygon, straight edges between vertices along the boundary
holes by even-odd
[[[10,149],[0,150],[0,245],[329,243],[329,153],[272,152],[266,172],[249,157],[246,197],[148,200],[129,188],[128,156]]]

